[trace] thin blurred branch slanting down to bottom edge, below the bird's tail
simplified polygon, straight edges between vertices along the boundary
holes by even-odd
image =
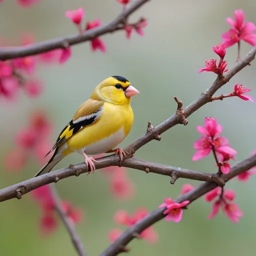
[[[66,213],[63,211],[63,209],[61,207],[60,198],[57,194],[54,184],[50,184],[50,190],[51,190],[51,195],[52,195],[52,199],[53,199],[53,203],[54,203],[54,208],[57,211],[57,213],[59,214],[63,224],[65,225],[65,227],[70,235],[70,238],[72,240],[72,243],[73,243],[75,249],[77,250],[78,255],[86,256],[83,243],[82,243],[79,235],[75,231],[73,222],[70,221],[70,219],[68,218],[68,216],[66,215]]]

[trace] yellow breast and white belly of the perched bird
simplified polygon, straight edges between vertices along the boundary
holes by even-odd
[[[75,152],[89,155],[104,153],[115,148],[129,133],[133,122],[131,107],[105,103],[98,120],[85,126],[67,140]]]

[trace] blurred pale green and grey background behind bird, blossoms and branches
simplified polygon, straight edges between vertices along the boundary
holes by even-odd
[[[100,18],[110,21],[121,10],[115,0],[41,0],[29,8],[20,7],[15,0],[0,4],[0,36],[17,41],[24,31],[32,32],[36,40],[76,33],[73,24],[64,16],[67,9],[83,7],[88,20]],[[19,173],[8,173],[2,165],[3,158],[14,147],[13,136],[26,126],[33,109],[44,109],[53,123],[52,142],[69,121],[76,108],[91,94],[94,87],[111,75],[125,76],[140,94],[132,98],[134,124],[130,134],[122,142],[125,147],[146,129],[147,121],[154,125],[168,118],[176,109],[173,96],[189,104],[210,86],[215,74],[203,72],[205,59],[216,57],[211,47],[221,41],[221,33],[229,29],[225,18],[233,16],[233,10],[242,8],[246,20],[256,22],[256,2],[251,0],[152,0],[130,17],[135,21],[141,15],[148,19],[143,37],[133,33],[127,40],[123,31],[101,38],[107,53],[91,52],[89,43],[72,47],[71,58],[63,65],[41,66],[37,77],[44,82],[44,92],[36,99],[28,99],[22,92],[15,103],[0,100],[0,187],[28,179],[41,167],[31,160]],[[242,42],[244,55],[250,45]],[[236,58],[236,47],[227,49],[230,67]],[[255,93],[255,63],[233,77],[217,94],[229,93],[235,83],[252,88]],[[162,134],[161,141],[151,141],[136,152],[136,157],[195,169],[214,172],[210,155],[193,162],[193,142],[199,138],[197,125],[203,125],[205,116],[215,116],[223,125],[222,135],[227,136],[235,148],[237,161],[247,157],[255,149],[255,104],[239,98],[228,98],[207,104],[188,118],[187,126],[177,125]],[[82,156],[72,154],[55,168],[78,163]],[[170,185],[169,178],[128,169],[136,192],[128,201],[118,201],[109,192],[109,184],[101,170],[92,175],[70,177],[56,184],[61,198],[70,200],[84,211],[84,221],[76,230],[85,244],[88,255],[98,255],[109,245],[107,232],[118,227],[112,220],[120,208],[129,213],[138,206],[155,209],[164,197],[175,198],[181,184],[178,179]],[[244,216],[239,223],[232,223],[221,212],[211,220],[206,217],[211,204],[198,199],[183,214],[180,223],[160,221],[154,225],[159,241],[149,244],[145,240],[133,240],[129,255],[252,255],[255,251],[254,216],[255,177],[248,183],[236,179],[226,187],[236,192],[235,202]],[[199,182],[190,182],[193,185]],[[38,230],[40,217],[37,203],[30,194],[22,200],[0,203],[0,255],[75,255],[69,236],[62,223],[55,233],[41,237]],[[122,227],[121,227],[122,228]],[[123,228],[124,230],[124,228]]]

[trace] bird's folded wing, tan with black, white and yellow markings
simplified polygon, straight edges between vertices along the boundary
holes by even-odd
[[[104,102],[88,99],[85,101],[75,112],[73,119],[64,127],[60,132],[56,143],[47,153],[49,154],[52,150],[64,143],[73,134],[79,131],[84,126],[88,126],[95,122],[101,115],[103,110]],[[46,155],[47,155],[46,154]]]

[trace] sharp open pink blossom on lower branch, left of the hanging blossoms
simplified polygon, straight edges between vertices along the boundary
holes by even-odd
[[[186,200],[183,202],[175,202],[172,198],[165,198],[164,202],[158,206],[158,208],[166,207],[163,211],[163,214],[167,214],[165,216],[166,221],[173,220],[174,222],[179,222],[182,218],[183,210],[181,207],[187,205],[190,201]]]

